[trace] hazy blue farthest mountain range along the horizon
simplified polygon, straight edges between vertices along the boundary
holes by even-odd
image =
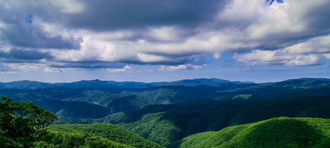
[[[183,79],[178,81],[171,82],[152,82],[152,83],[143,83],[143,82],[134,82],[134,81],[101,81],[99,79],[94,80],[81,80],[77,82],[70,83],[44,83],[38,81],[13,81],[8,83],[0,83],[0,89],[23,89],[23,90],[34,90],[34,89],[43,89],[43,88],[80,88],[80,87],[92,87],[92,88],[106,88],[106,87],[124,87],[124,88],[144,88],[144,87],[157,87],[157,86],[198,86],[198,85],[207,85],[213,87],[222,87],[226,85],[235,85],[235,84],[245,84],[253,83],[250,81],[241,82],[241,81],[229,81],[218,78],[196,78],[196,79]]]

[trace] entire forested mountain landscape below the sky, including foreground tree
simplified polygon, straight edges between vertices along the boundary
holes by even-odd
[[[1,148],[326,148],[330,79],[0,83]]]

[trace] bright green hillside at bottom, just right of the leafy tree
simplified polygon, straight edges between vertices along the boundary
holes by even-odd
[[[162,146],[153,142],[147,141],[142,137],[128,132],[127,130],[106,123],[94,123],[94,124],[67,124],[67,125],[51,125],[48,130],[60,132],[60,133],[90,133],[92,132],[96,136],[106,138],[108,140],[118,142],[121,144],[133,146],[136,148],[163,148]]]

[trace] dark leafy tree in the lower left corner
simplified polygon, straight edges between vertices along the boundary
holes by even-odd
[[[0,128],[3,136],[13,141],[36,141],[55,119],[56,114],[34,105],[32,101],[14,102],[1,96]]]

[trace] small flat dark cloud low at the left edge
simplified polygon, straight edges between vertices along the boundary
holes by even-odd
[[[19,49],[11,49],[9,52],[0,51],[0,59],[3,62],[14,62],[14,63],[21,63],[21,62],[32,62],[32,61],[39,61],[42,59],[52,60],[54,57],[51,55],[50,52],[38,52],[35,50],[19,50]]]

